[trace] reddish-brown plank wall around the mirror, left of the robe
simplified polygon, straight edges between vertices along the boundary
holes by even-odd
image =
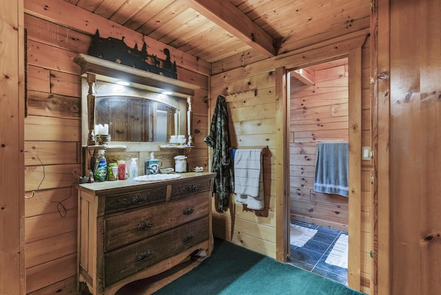
[[[91,36],[142,36],[95,14],[59,1],[45,10],[45,1],[25,1],[28,30],[28,118],[25,118],[25,267],[28,294],[76,294],[77,200],[72,184],[81,171],[81,78],[72,62],[87,53]],[[69,22],[69,14],[75,16]],[[82,20],[93,27],[83,28]],[[165,47],[147,41],[150,54]],[[141,46],[139,46],[141,47]],[[170,50],[178,54],[176,50]],[[172,57],[173,58],[173,57]],[[174,58],[177,58],[174,55]],[[197,73],[201,61],[183,56],[178,77],[199,85],[193,101],[195,148],[189,164],[207,167],[208,72]],[[208,69],[207,65],[201,67]],[[63,208],[61,208],[61,204]]]

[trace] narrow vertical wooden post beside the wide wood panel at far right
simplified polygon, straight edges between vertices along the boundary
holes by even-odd
[[[378,28],[378,30],[377,30]],[[390,3],[373,1],[371,12],[372,146],[374,193],[371,294],[391,294],[390,206]]]

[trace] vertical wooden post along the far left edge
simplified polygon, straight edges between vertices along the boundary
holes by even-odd
[[[23,0],[0,10],[0,294],[25,294]]]

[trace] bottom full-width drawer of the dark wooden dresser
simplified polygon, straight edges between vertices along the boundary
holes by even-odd
[[[209,239],[209,217],[104,254],[105,285]]]

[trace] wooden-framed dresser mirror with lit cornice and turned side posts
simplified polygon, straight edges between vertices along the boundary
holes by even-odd
[[[162,143],[183,135],[192,146],[192,97],[198,86],[85,54],[74,62],[83,77],[83,146],[97,144],[100,125],[112,142]],[[129,86],[116,84],[121,80]]]

